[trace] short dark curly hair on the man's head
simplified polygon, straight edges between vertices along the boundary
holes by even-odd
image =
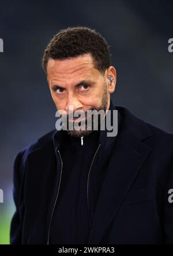
[[[69,27],[58,32],[44,50],[42,67],[47,74],[49,58],[64,60],[90,53],[95,68],[104,72],[111,65],[111,54],[106,40],[88,27]]]

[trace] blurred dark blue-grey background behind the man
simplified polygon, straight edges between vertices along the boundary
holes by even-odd
[[[160,129],[173,132],[173,1],[1,1],[0,188],[6,234],[14,210],[14,156],[55,129],[55,105],[41,61],[43,50],[59,30],[76,25],[95,28],[111,50],[117,83],[115,105]],[[3,243],[0,218],[0,243]],[[6,235],[7,236],[7,235]],[[4,242],[5,243],[5,242]]]

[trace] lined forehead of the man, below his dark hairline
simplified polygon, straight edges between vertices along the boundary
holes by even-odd
[[[85,54],[65,60],[53,60],[47,63],[47,75],[51,76],[74,76],[96,72],[91,54]]]

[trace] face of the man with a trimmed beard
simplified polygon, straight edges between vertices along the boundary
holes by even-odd
[[[66,112],[67,119],[72,111],[84,111],[87,118],[86,111],[90,109],[106,111],[109,108],[110,93],[105,77],[106,74],[102,75],[94,67],[90,54],[65,60],[48,60],[47,80],[51,96],[57,109]],[[69,130],[69,134],[77,137],[89,133],[91,130]]]

